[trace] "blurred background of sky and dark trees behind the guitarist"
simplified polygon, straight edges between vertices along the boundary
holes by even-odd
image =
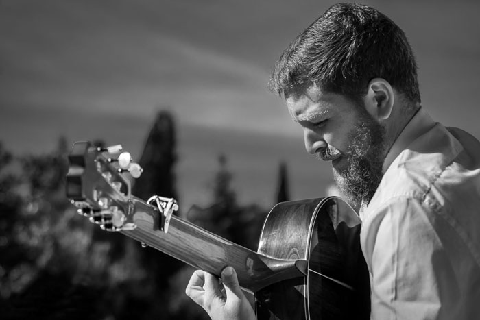
[[[0,0],[1,314],[205,319],[184,296],[192,269],[75,214],[67,153],[121,143],[145,168],[134,194],[175,196],[181,217],[256,249],[276,202],[332,181],[267,82],[333,3]],[[422,106],[479,138],[480,3],[364,3],[407,34]]]

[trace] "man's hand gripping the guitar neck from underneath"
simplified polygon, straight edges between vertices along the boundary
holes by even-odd
[[[237,273],[232,267],[221,271],[225,293],[219,288],[219,280],[202,270],[190,278],[185,293],[208,313],[213,320],[251,320],[255,312],[241,291]]]

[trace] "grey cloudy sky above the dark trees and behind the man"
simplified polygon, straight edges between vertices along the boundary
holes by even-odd
[[[46,153],[58,136],[121,143],[139,158],[158,110],[178,133],[180,206],[207,204],[219,153],[243,203],[322,197],[328,163],[267,82],[281,51],[333,1],[0,0],[0,140]],[[365,1],[407,34],[422,106],[480,137],[480,3]],[[147,174],[147,173],[145,173]]]

